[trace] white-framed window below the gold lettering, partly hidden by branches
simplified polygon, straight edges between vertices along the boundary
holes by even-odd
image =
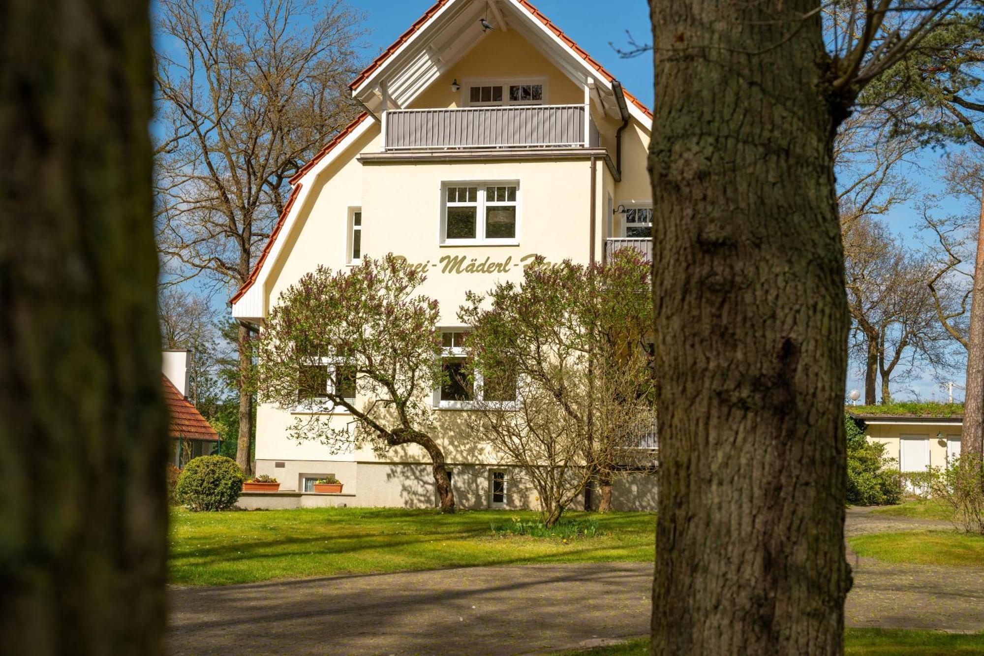
[[[436,392],[439,408],[468,408],[476,400],[508,404],[517,398],[517,378],[505,374],[483,376],[468,367],[464,341],[468,331],[447,330],[441,336],[441,370],[444,380]]]

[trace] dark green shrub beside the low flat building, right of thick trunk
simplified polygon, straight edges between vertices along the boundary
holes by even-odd
[[[891,505],[902,497],[895,462],[885,455],[886,445],[869,442],[850,417],[847,431],[847,502],[852,505]]]

